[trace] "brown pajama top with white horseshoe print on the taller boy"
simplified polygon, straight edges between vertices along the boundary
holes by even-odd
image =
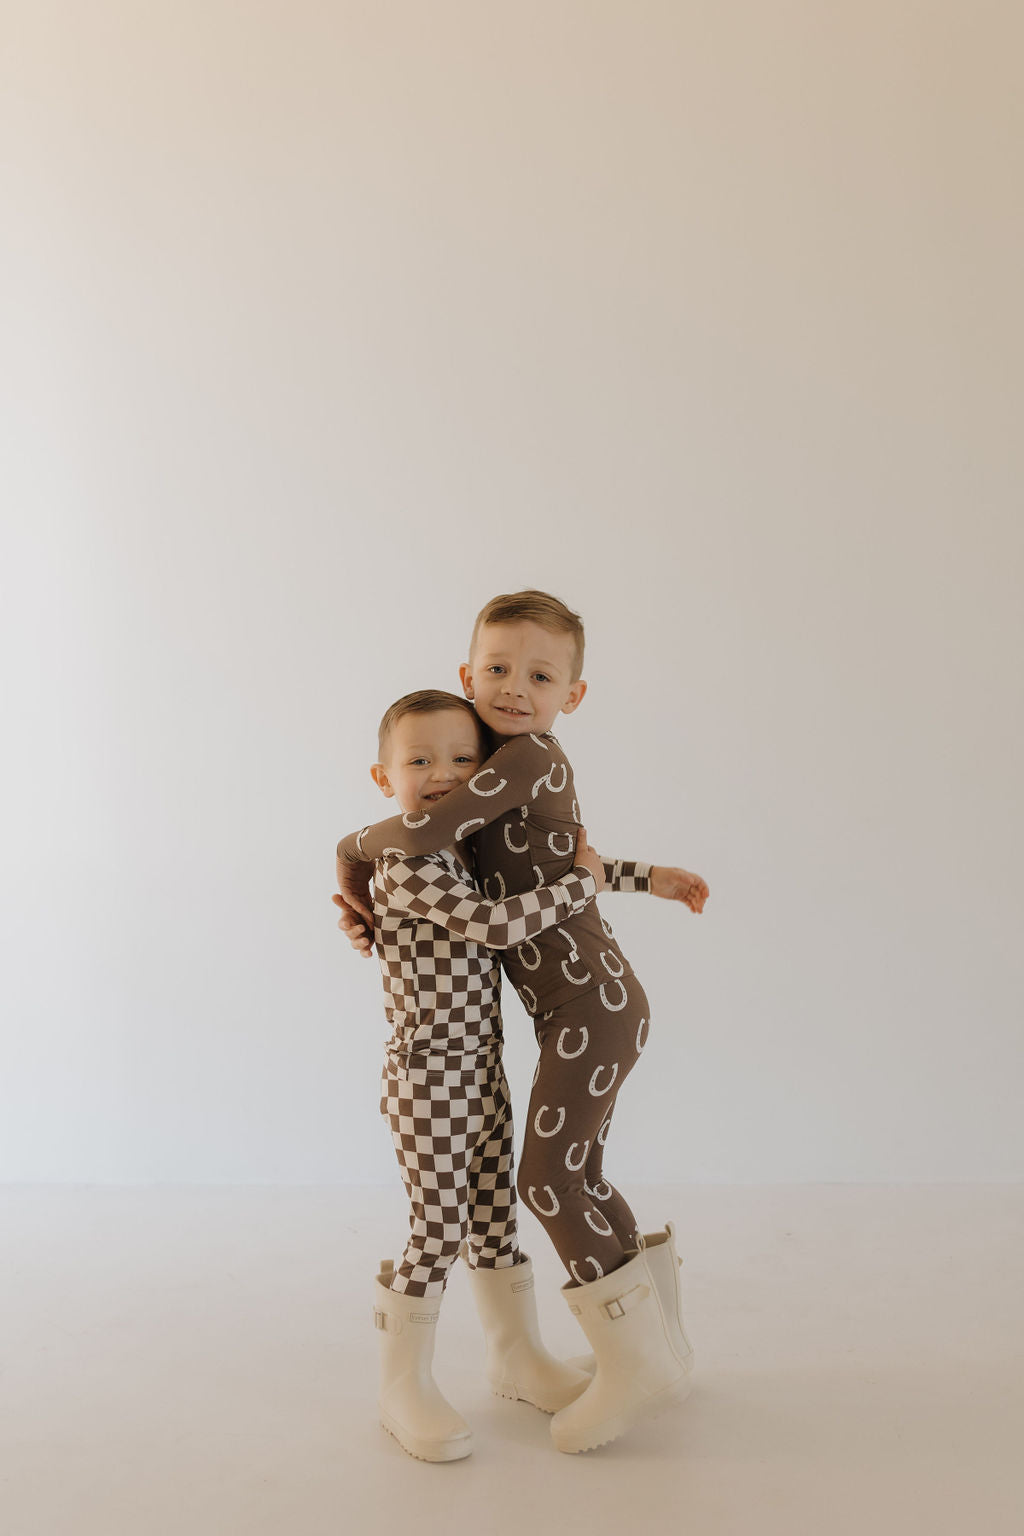
[[[516,736],[473,777],[422,816],[396,816],[338,845],[342,865],[382,856],[436,852],[464,837],[476,854],[484,895],[505,902],[557,885],[573,868],[580,813],[571,765],[554,736]],[[648,891],[651,866],[605,860],[613,891]],[[597,903],[571,912],[545,931],[510,937],[502,965],[530,1014],[560,1006],[588,988],[603,988],[613,1011],[633,974]]]

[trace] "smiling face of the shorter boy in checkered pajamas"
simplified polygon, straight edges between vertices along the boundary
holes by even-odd
[[[467,710],[404,714],[391,727],[384,756],[387,762],[370,768],[373,782],[407,816],[428,809],[484,762],[481,733]]]

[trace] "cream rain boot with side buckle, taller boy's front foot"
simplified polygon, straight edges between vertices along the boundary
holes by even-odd
[[[586,1392],[551,1419],[559,1450],[593,1450],[617,1439],[637,1419],[689,1392],[676,1327],[640,1249],[611,1275],[562,1287],[590,1339],[597,1370]]]

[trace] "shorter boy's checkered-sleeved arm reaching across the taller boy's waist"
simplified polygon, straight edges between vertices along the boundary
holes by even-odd
[[[599,868],[597,859],[591,862]],[[488,902],[430,857],[384,860],[382,883],[391,908],[425,917],[488,949],[511,949],[567,922],[593,902],[599,888],[594,871],[577,865],[551,885]]]

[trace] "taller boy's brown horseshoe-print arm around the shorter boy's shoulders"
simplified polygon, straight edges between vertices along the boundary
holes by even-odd
[[[451,790],[431,811],[419,817],[391,816],[387,822],[364,826],[338,843],[338,883],[345,865],[373,863],[385,854],[436,854],[450,843],[462,842],[488,822],[494,822],[514,806],[528,805],[548,782],[553,768],[548,746],[536,736],[516,736],[505,742],[473,774],[468,783]],[[355,905],[355,903],[352,903]]]

